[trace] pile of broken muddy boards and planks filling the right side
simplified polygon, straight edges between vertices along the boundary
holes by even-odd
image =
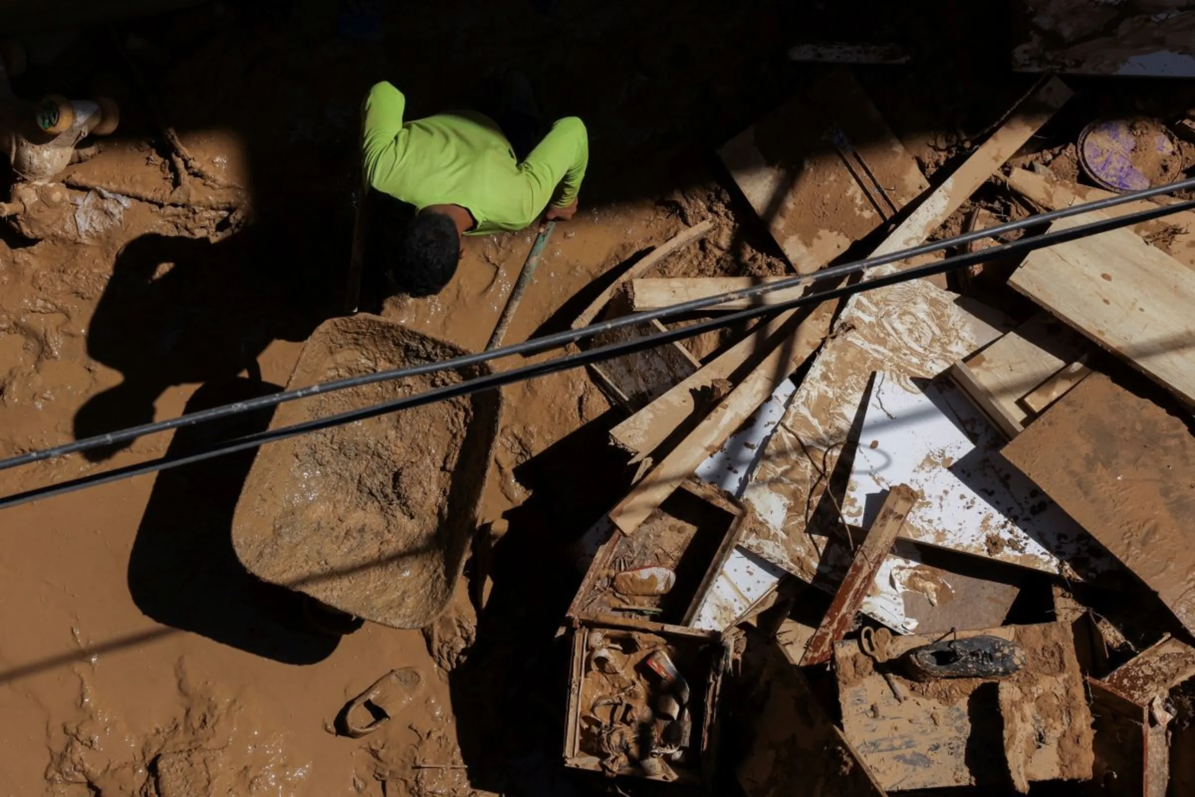
[[[1052,35],[1078,37],[1076,47],[1101,30],[1077,33],[1043,11],[1054,0],[1030,5]],[[804,47],[792,57],[876,53]],[[933,189],[841,68],[719,155],[792,271],[808,275],[856,244],[880,257],[949,235],[960,215],[982,216],[986,229],[1025,209],[1113,196],[1034,160],[1035,139],[1071,94],[1043,79]],[[1058,118],[1077,125],[1074,135],[1080,122]],[[1030,167],[1006,168],[1013,158]],[[1195,743],[1178,732],[1195,727],[1195,537],[1184,531],[1195,516],[1195,327],[1183,309],[1195,292],[1193,219],[1183,209],[1005,257],[985,264],[981,280],[906,280],[785,311],[626,403],[635,411],[609,436],[636,482],[577,544],[589,572],[569,613],[575,633],[612,612],[641,611],[694,639],[736,652],[743,644],[744,666],[759,657],[735,712],[746,740],[737,775],[749,797],[803,786],[841,797],[1027,793],[1048,780],[1115,780],[1124,787],[1115,793],[1164,795],[1171,743]],[[785,278],[704,274],[632,269],[623,309]],[[717,550],[681,534],[668,556],[636,558],[660,548],[661,523],[694,522],[676,496],[700,492],[699,482],[733,507]],[[682,588],[686,562],[705,575]],[[675,587],[666,580],[651,599],[611,593],[652,568],[675,571]],[[1107,611],[1128,587],[1140,617]],[[584,643],[574,644],[576,695]],[[838,723],[822,710],[835,697]],[[569,764],[603,768],[611,753],[581,754],[578,738],[570,731]],[[631,764],[630,749],[614,768],[660,779],[650,761]],[[1195,778],[1173,771],[1176,783]]]

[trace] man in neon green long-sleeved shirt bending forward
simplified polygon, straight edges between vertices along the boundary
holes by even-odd
[[[448,284],[460,259],[461,235],[522,229],[545,208],[547,220],[568,220],[576,213],[589,163],[581,119],[558,119],[534,143],[517,135],[527,131],[527,124],[500,125],[476,111],[404,122],[405,106],[398,88],[376,84],[366,98],[362,136],[367,186],[416,211],[398,251],[387,253],[393,257],[391,275],[405,293],[427,296]],[[511,142],[517,139],[522,141]]]

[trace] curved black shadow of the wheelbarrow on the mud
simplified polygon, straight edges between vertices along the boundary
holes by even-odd
[[[188,412],[275,393],[276,385],[244,378],[212,381]],[[272,409],[179,429],[168,455],[262,431]],[[129,557],[133,601],[158,623],[281,661],[310,664],[329,656],[338,637],[305,621],[300,593],[253,577],[237,559],[232,521],[257,450],[161,471]]]

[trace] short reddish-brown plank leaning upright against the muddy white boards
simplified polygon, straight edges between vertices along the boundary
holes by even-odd
[[[834,655],[834,643],[846,636],[854,624],[854,615],[863,605],[863,599],[868,596],[871,582],[876,580],[880,565],[891,551],[896,535],[905,526],[905,519],[914,503],[917,492],[907,484],[897,484],[888,491],[888,497],[884,498],[868,537],[854,552],[854,560],[851,562],[846,577],[842,578],[834,600],[831,601],[826,617],[822,618],[821,625],[805,648],[804,656],[801,657],[802,667],[828,662]]]

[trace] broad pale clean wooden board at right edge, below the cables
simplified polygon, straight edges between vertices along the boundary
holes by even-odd
[[[1085,213],[1050,229],[1107,220]],[[1188,403],[1195,403],[1195,274],[1128,229],[1029,255],[1009,284]]]

